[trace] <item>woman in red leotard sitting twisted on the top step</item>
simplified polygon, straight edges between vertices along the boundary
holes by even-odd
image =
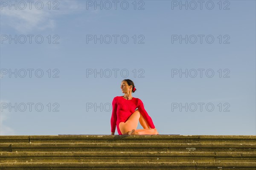
[[[136,91],[134,82],[124,79],[121,82],[124,96],[116,96],[112,102],[111,135],[116,127],[119,135],[158,135],[151,117],[145,111],[143,102],[131,96]],[[138,108],[137,110],[135,110]],[[136,129],[138,121],[144,129]]]

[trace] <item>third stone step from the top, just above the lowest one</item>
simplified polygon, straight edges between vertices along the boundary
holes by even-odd
[[[18,162],[256,162],[256,153],[227,152],[3,152],[0,163]]]

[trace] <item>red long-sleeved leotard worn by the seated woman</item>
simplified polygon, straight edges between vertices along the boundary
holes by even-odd
[[[131,100],[125,99],[123,96],[116,96],[112,102],[112,116],[111,116],[111,132],[117,132],[122,135],[119,129],[120,122],[126,122],[135,109],[138,108],[144,119],[147,121],[150,128],[154,129],[154,123],[151,117],[146,112],[143,102],[139,98],[133,97]]]

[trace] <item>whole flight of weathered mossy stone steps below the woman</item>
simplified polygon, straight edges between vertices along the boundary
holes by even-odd
[[[256,136],[0,136],[2,170],[253,170]]]

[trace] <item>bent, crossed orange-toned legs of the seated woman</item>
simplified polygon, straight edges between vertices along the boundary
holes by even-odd
[[[137,129],[138,123],[140,121],[140,125],[144,129]],[[139,132],[140,135],[157,135],[157,129],[151,129],[148,126],[147,121],[141,115],[140,111],[137,109],[131,116],[128,118],[126,122],[119,123],[119,129],[123,135],[128,135],[128,132],[135,129],[135,132]]]

